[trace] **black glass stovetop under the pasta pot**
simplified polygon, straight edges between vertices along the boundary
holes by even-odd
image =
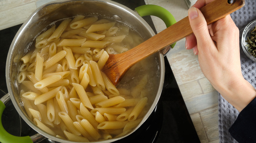
[[[138,6],[145,5],[144,0],[114,0],[128,8],[134,9]],[[143,17],[144,20],[155,31],[154,24],[150,16]],[[0,30],[0,66],[5,67],[6,58],[11,45],[12,39],[20,28],[21,24]],[[175,47],[174,47],[175,48]],[[171,51],[170,51],[171,52]],[[169,62],[166,57],[165,61],[165,78],[163,90],[159,103],[150,117],[142,124],[142,126],[132,135],[116,141],[118,142],[143,142],[143,143],[186,143],[200,142],[192,123],[187,107],[182,98],[180,89],[175,80]],[[5,68],[0,68],[0,97],[8,93]],[[9,103],[2,115],[2,123],[4,128],[16,136],[33,135],[36,132],[30,128],[23,119],[21,119],[12,103]],[[44,139],[42,142],[49,142]]]

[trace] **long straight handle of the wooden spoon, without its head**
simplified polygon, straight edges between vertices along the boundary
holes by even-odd
[[[237,9],[242,8],[244,5],[244,0],[233,0],[232,4],[229,4],[228,0],[215,0],[200,10],[205,17],[207,25],[209,25]],[[133,49],[123,53],[122,58],[130,57],[132,59],[126,60],[129,61],[129,64],[135,64],[192,33],[193,31],[187,16]]]

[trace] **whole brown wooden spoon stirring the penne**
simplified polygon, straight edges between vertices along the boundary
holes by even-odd
[[[232,0],[215,0],[200,9],[208,25],[245,5],[244,0],[233,0],[231,4],[228,1]],[[109,55],[102,71],[114,85],[117,85],[134,64],[192,33],[188,17],[185,17],[131,50],[122,54]]]

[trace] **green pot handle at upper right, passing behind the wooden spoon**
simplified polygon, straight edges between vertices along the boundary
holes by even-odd
[[[168,10],[157,5],[143,5],[135,8],[135,10],[139,13],[141,17],[148,15],[159,17],[161,20],[163,20],[166,27],[169,27],[172,24],[176,23],[175,18]],[[176,43],[173,43],[171,47],[173,48],[175,44]]]

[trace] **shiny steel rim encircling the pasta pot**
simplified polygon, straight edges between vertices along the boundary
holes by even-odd
[[[22,24],[22,26],[20,27],[20,29],[18,30],[17,34],[15,35],[12,43],[11,43],[11,46],[10,46],[10,49],[9,49],[9,52],[8,52],[8,56],[7,56],[7,62],[6,62],[6,83],[7,83],[7,88],[8,88],[8,91],[9,91],[9,95],[10,95],[10,98],[11,98],[11,101],[15,107],[15,109],[17,110],[17,112],[19,113],[19,115],[22,117],[22,119],[25,120],[25,122],[31,126],[36,132],[40,133],[41,135],[44,135],[46,136],[47,138],[50,138],[50,139],[53,139],[55,141],[59,141],[59,142],[63,142],[63,143],[71,143],[71,142],[74,142],[74,141],[69,141],[69,140],[64,140],[64,139],[60,139],[58,137],[55,137],[53,135],[50,135],[48,133],[46,133],[45,131],[41,130],[39,127],[37,127],[29,118],[27,115],[25,115],[22,110],[20,109],[21,108],[21,105],[20,103],[17,103],[15,97],[14,97],[14,92],[12,90],[12,77],[10,76],[11,75],[11,65],[12,65],[12,60],[14,57],[12,55],[13,53],[13,50],[15,49],[15,46],[16,46],[16,43],[17,43],[17,40],[18,39],[21,39],[22,38],[22,35],[24,33],[26,33],[26,29],[27,27],[30,25],[30,22],[31,22],[31,19],[33,19],[33,17],[35,16],[35,14],[37,12],[39,12],[41,9],[43,8],[46,8],[50,5],[53,5],[53,4],[64,4],[64,3],[67,3],[67,2],[72,2],[73,0],[56,0],[56,1],[52,1],[52,2],[49,2],[39,8],[37,8],[34,12],[32,12],[32,14],[28,17],[28,19]],[[135,17],[137,20],[139,20],[150,32],[151,36],[154,36],[155,33],[154,31],[152,30],[152,28],[149,26],[149,24],[142,18],[139,16],[139,14],[137,14],[135,11],[131,10],[130,8],[124,6],[124,5],[121,5],[117,2],[114,2],[114,1],[111,1],[111,0],[76,0],[74,2],[85,2],[85,1],[90,1],[90,2],[98,2],[98,3],[106,3],[108,5],[111,5],[113,7],[119,7],[119,8],[122,8],[123,11],[129,13],[131,16]],[[162,87],[163,87],[163,81],[164,81],[164,58],[163,58],[163,54],[162,52],[160,51],[159,52],[159,70],[160,70],[160,82],[159,82],[159,88],[158,88],[158,91],[157,91],[157,94],[156,94],[156,97],[154,99],[154,102],[152,103],[151,107],[149,108],[148,112],[146,113],[146,115],[144,116],[144,118],[142,119],[142,121],[139,123],[139,125],[134,128],[130,133],[126,134],[126,135],[123,135],[121,137],[117,137],[117,138],[112,138],[112,139],[107,139],[107,140],[102,140],[102,141],[96,141],[97,143],[107,143],[107,142],[113,142],[113,141],[117,141],[119,139],[122,139],[128,135],[131,135],[133,132],[135,132],[144,122],[146,119],[148,119],[149,115],[153,112],[154,108],[156,107],[158,101],[159,101],[159,98],[160,98],[160,94],[161,94],[161,91],[162,91]],[[18,83],[17,83],[17,80],[15,80],[15,83],[14,85],[16,87],[18,87]],[[74,142],[75,143],[75,142]]]

